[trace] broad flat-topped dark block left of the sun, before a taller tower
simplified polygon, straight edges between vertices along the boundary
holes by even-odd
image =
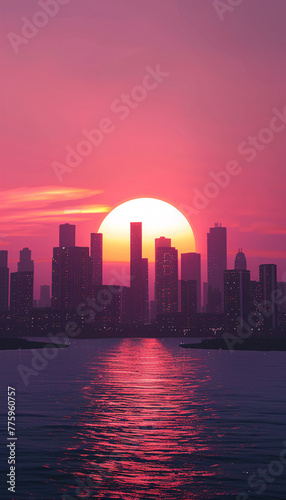
[[[90,294],[88,247],[56,247],[52,262],[52,308],[76,310]]]

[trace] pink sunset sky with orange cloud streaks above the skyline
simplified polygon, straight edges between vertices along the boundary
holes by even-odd
[[[197,251],[205,259],[206,232],[221,221],[229,267],[242,247],[253,278],[259,263],[274,262],[281,279],[286,127],[252,162],[237,148],[286,106],[284,2],[245,1],[221,22],[211,1],[71,0],[17,54],[7,35],[41,8],[2,0],[1,10],[0,246],[12,271],[19,250],[32,249],[36,295],[50,282],[60,222],[76,223],[77,244],[88,245],[107,211],[128,199],[187,210],[193,190],[230,160],[242,172],[189,213]],[[169,75],[121,120],[112,103],[158,64]],[[64,163],[66,147],[105,118],[112,132],[60,182],[52,162]]]

